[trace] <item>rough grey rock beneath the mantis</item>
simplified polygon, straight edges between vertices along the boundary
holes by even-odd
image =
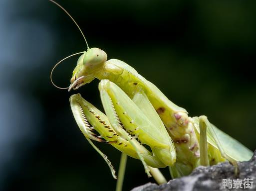
[[[220,163],[211,167],[200,166],[191,175],[174,179],[167,184],[156,185],[147,183],[136,187],[132,191],[256,191],[256,151],[253,158],[248,162],[239,162],[240,173],[235,176],[234,167],[228,163]],[[223,179],[253,179],[253,188],[223,187]],[[234,187],[234,183],[232,185]]]

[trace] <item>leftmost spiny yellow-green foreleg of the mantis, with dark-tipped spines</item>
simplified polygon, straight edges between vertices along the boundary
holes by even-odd
[[[161,168],[166,167],[154,154],[147,150],[141,143],[140,140],[134,137],[134,134],[130,134],[128,129],[122,132],[118,132],[115,128],[113,128],[113,124],[111,124],[108,116],[102,113],[99,109],[93,106],[91,103],[86,101],[80,94],[71,95],[70,96],[70,105],[74,115],[74,118],[84,134],[84,136],[88,139],[95,140],[98,142],[109,143],[114,146],[116,149],[125,153],[126,155],[136,158],[143,159],[145,161],[145,165],[151,166],[153,168]],[[104,98],[102,98],[103,103]],[[132,101],[132,100],[130,100]],[[115,113],[118,116],[118,112]],[[119,120],[119,118],[118,118]],[[120,123],[121,121],[118,121]],[[122,128],[125,128],[126,124],[123,124]],[[95,148],[91,141],[90,144]],[[110,169],[113,174],[112,165],[110,162],[106,160],[106,156],[101,153],[97,148],[95,148],[97,152],[101,154],[101,156],[105,159],[105,161],[110,166]],[[149,171],[147,172],[149,174]]]

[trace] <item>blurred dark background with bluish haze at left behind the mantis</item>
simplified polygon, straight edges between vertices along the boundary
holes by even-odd
[[[134,67],[190,116],[256,149],[255,0],[58,0],[90,47]],[[116,181],[78,129],[68,98],[102,109],[98,80],[68,93],[49,74],[86,49],[71,19],[47,0],[0,2],[0,190],[113,191]],[[54,73],[67,87],[78,57]],[[120,152],[97,144],[116,170]],[[124,191],[148,179],[128,159]],[[168,176],[168,172],[164,173]]]

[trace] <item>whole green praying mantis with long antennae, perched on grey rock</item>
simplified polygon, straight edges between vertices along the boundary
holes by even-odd
[[[70,16],[58,3],[50,1]],[[166,182],[159,168],[169,167],[171,177],[178,178],[189,175],[200,165],[229,161],[236,166],[237,161],[251,159],[251,150],[211,124],[206,116],[189,117],[184,108],[174,104],[134,68],[117,59],[107,60],[103,50],[89,48],[86,39],[85,42],[86,51],[60,62],[82,54],[68,91],[77,90],[95,78],[100,80],[98,88],[105,114],[80,94],[71,95],[69,101],[77,125],[107,162],[115,179],[112,164],[91,140],[108,143],[121,151],[117,191],[122,189],[127,156],[139,159],[146,174],[158,184]]]

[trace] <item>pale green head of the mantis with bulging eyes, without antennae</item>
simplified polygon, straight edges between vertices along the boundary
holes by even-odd
[[[106,61],[107,54],[99,48],[89,48],[86,52],[83,52],[73,70],[68,91],[71,89],[77,90],[94,80],[96,74],[101,72]]]

